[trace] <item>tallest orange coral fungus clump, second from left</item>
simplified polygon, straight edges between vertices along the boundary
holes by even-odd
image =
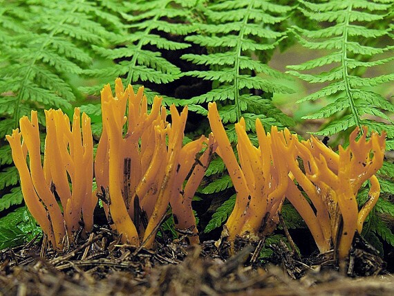
[[[195,183],[199,183],[197,177],[203,178],[203,174],[195,168],[198,174],[191,178],[193,185],[187,187],[187,196],[182,194],[183,183],[207,140],[203,136],[182,146],[187,107],[178,113],[171,106],[169,124],[161,102],[161,98],[154,98],[148,113],[143,88],[134,93],[129,85],[124,90],[120,79],[115,81],[115,97],[109,85],[102,90],[103,133],[95,160],[97,187],[108,188],[106,212],[113,228],[123,234],[122,241],[135,246],[143,242],[147,248],[153,246],[169,204],[174,216],[182,217],[179,228],[193,228],[196,234],[190,195],[194,195]],[[212,141],[208,144],[211,148]],[[209,159],[202,159],[206,167]],[[147,225],[140,225],[139,207],[147,216]]]

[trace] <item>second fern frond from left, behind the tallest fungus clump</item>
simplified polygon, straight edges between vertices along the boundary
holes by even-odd
[[[180,69],[168,62],[158,50],[179,50],[190,46],[171,40],[171,36],[186,35],[194,30],[187,24],[191,15],[189,8],[194,2],[156,0],[147,3],[139,0],[124,3],[121,15],[127,30],[123,30],[120,35],[111,36],[111,48],[93,46],[98,55],[117,61],[118,64],[85,73],[94,77],[106,77],[109,81],[124,77],[124,84],[133,86],[143,82],[166,84],[177,80],[181,76]],[[153,92],[149,88],[145,87],[145,93],[153,98]],[[163,99],[165,104],[176,102],[169,97]]]

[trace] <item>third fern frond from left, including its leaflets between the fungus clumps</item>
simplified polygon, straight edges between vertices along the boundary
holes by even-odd
[[[196,24],[197,34],[185,38],[207,48],[207,54],[185,54],[181,58],[196,65],[209,66],[209,70],[189,71],[185,75],[211,81],[213,87],[208,93],[185,100],[186,103],[220,101],[219,112],[231,142],[236,142],[233,123],[241,116],[245,118],[247,130],[252,132],[257,118],[268,129],[273,124],[293,125],[294,121],[277,109],[271,100],[272,93],[292,92],[275,80],[287,77],[270,68],[268,60],[261,54],[272,51],[285,38],[285,33],[276,30],[276,24],[283,21],[283,15],[290,12],[290,8],[270,1],[221,1],[211,3],[207,8],[203,11],[205,23]],[[252,57],[252,52],[262,58]],[[255,92],[265,93],[254,95]],[[222,160],[214,160],[206,176],[222,174],[224,168]],[[220,192],[229,186],[232,186],[231,180],[223,174],[216,176],[202,192]],[[225,209],[227,203],[218,208],[205,232],[217,228],[227,219]]]

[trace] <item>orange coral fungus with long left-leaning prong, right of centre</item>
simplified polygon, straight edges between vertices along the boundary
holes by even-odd
[[[245,120],[236,124],[238,136],[238,165],[232,146],[227,138],[216,103],[208,106],[208,118],[212,132],[218,141],[218,154],[232,178],[236,189],[236,203],[225,224],[230,241],[236,236],[249,235],[258,239],[269,234],[277,223],[277,212],[283,203],[288,184],[288,171],[284,158],[274,148],[279,145],[279,131],[274,127],[265,134],[263,126],[256,120],[259,148],[250,142],[245,131]]]

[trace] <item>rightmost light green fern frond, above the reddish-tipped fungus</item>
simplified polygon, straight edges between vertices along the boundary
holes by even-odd
[[[384,19],[386,12],[392,9],[390,4],[377,3],[379,1],[330,1],[329,3],[310,3],[300,1],[305,8],[300,8],[306,17],[317,21],[328,21],[332,26],[320,30],[306,30],[295,28],[295,34],[299,42],[306,48],[328,49],[332,53],[312,59],[301,65],[288,66],[294,71],[288,71],[292,75],[300,77],[310,83],[330,84],[320,91],[308,95],[299,102],[317,100],[331,96],[332,101],[317,113],[308,115],[306,119],[319,119],[336,117],[317,134],[330,136],[339,131],[344,131],[355,125],[382,131],[386,130],[389,138],[393,138],[393,126],[387,126],[382,122],[362,118],[369,114],[377,116],[390,122],[393,121],[386,115],[387,111],[394,111],[393,104],[386,98],[367,87],[377,86],[394,80],[394,74],[386,74],[378,77],[359,77],[355,75],[359,68],[370,68],[386,64],[394,59],[394,56],[384,59],[370,59],[376,55],[393,50],[393,46],[377,48],[368,46],[368,39],[375,39],[388,35],[387,29],[369,28],[371,22]],[[384,1],[382,1],[384,2]],[[387,2],[387,1],[386,1]],[[364,44],[365,43],[365,44]],[[306,71],[320,66],[330,65],[332,69],[328,72],[318,74],[306,74]]]

